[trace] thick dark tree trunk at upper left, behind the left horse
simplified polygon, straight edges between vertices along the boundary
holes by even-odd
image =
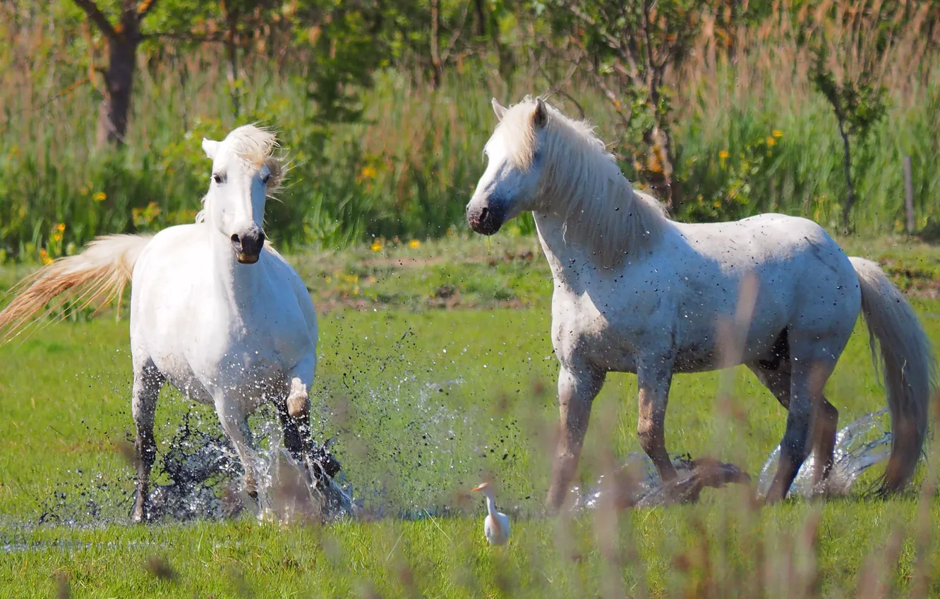
[[[104,73],[105,95],[98,113],[98,146],[123,146],[125,143],[139,43],[135,29],[108,38],[108,69]]]

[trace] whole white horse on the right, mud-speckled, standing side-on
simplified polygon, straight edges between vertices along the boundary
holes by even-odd
[[[666,218],[635,192],[584,122],[543,100],[509,109],[486,172],[466,208],[474,231],[493,235],[524,210],[535,215],[555,280],[552,341],[558,376],[559,441],[547,507],[556,511],[577,468],[591,403],[608,372],[639,384],[640,445],[662,480],[666,398],[673,373],[744,363],[789,409],[768,500],[781,499],[810,449],[821,482],[832,467],[838,410],[823,386],[861,311],[884,361],[892,446],[881,491],[914,473],[927,432],[934,361],[917,316],[878,266],[849,258],[817,223],[764,214],[733,223]],[[751,285],[749,325],[737,356],[722,356],[717,322],[735,314]],[[756,285],[756,288],[755,288]]]

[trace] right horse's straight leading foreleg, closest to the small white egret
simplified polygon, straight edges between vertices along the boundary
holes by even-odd
[[[556,513],[565,502],[568,485],[578,468],[581,448],[587,433],[590,408],[603,387],[606,373],[582,368],[561,368],[558,374],[558,446],[552,468],[552,484],[545,504]]]

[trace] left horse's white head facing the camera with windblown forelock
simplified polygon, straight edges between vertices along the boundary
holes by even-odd
[[[281,177],[273,157],[274,133],[245,125],[221,142],[202,140],[212,161],[212,179],[204,200],[206,222],[231,239],[242,264],[258,262],[264,247],[264,204]]]

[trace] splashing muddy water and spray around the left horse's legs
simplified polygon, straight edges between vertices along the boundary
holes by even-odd
[[[217,422],[196,408],[184,414],[172,437],[161,443],[164,451],[158,453],[151,474],[150,521],[221,520],[247,515],[287,523],[359,516],[421,519],[445,515],[448,510],[435,500],[439,498],[419,488],[419,470],[427,466],[440,467],[464,476],[472,468],[469,456],[464,459],[455,455],[459,452],[452,451],[453,446],[448,443],[448,439],[462,437],[462,432],[456,431],[467,428],[465,415],[445,407],[435,397],[461,384],[460,379],[426,383],[415,376],[403,376],[388,387],[367,389],[362,393],[355,402],[360,412],[359,424],[377,431],[368,436],[375,451],[387,453],[387,446],[400,444],[402,438],[422,440],[414,443],[412,439],[412,444],[419,449],[399,450],[390,463],[369,465],[368,459],[367,464],[353,462],[352,469],[362,474],[360,480],[364,481],[356,489],[344,470],[332,479],[327,477],[321,484],[310,484],[318,477],[307,471],[305,465],[298,464],[282,446],[281,427],[273,410],[262,407],[252,425],[258,448],[258,499],[250,498],[243,491],[241,461]],[[325,420],[326,416],[323,418]],[[399,422],[405,420],[402,428],[406,430],[387,426],[383,429],[381,423],[390,418]],[[326,428],[326,422],[315,421],[312,425],[321,432]],[[360,436],[347,435],[344,440],[348,444],[356,437]],[[330,439],[326,445],[332,441]],[[125,453],[132,457],[133,446],[125,444]],[[341,459],[343,466],[352,461],[348,455]],[[388,470],[390,466],[398,470],[398,488],[394,494],[372,472]],[[368,475],[371,478],[367,478]],[[123,468],[117,480],[115,472],[64,470],[55,493],[43,502],[38,521],[4,524],[10,530],[25,530],[42,524],[76,528],[102,523],[130,524],[134,498],[133,492],[127,491],[129,481],[133,481],[130,467]],[[411,500],[403,501],[402,497]],[[18,543],[8,545],[8,551],[27,548]]]

